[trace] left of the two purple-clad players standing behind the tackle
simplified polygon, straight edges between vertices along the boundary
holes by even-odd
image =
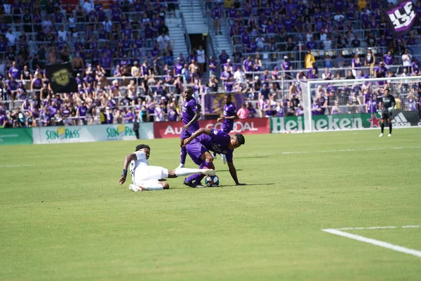
[[[192,133],[199,129],[199,120],[201,106],[196,103],[196,100],[193,98],[193,88],[192,86],[187,86],[183,92],[184,101],[182,102],[182,122],[184,126],[182,127],[182,132],[180,136],[180,147],[181,147],[181,157],[179,168],[185,167],[187,150],[184,146],[185,138],[192,136]]]

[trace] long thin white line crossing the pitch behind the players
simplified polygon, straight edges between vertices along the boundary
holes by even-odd
[[[289,155],[289,154],[306,154],[306,153],[335,153],[335,152],[356,152],[356,151],[378,151],[378,150],[399,150],[399,149],[420,149],[421,146],[407,146],[401,148],[363,148],[363,149],[347,149],[347,150],[319,150],[319,151],[286,151],[286,152],[275,152],[275,153],[258,153],[258,154],[247,154],[245,156],[262,156],[262,155]],[[164,157],[161,158],[164,160],[175,159],[174,157]],[[83,162],[83,164],[88,163],[105,163],[103,161],[93,161],[93,162]],[[74,162],[68,163],[53,163],[55,164],[74,164]],[[44,166],[46,164],[22,164],[22,165],[4,165],[0,168],[19,168],[23,166]]]

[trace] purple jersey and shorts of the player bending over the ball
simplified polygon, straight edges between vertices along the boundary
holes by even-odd
[[[227,157],[227,162],[232,162],[232,153],[234,150],[228,148],[231,136],[223,131],[211,129],[210,134],[202,134],[186,145],[187,152],[193,162],[200,165],[203,160],[201,155],[208,150],[217,152]]]

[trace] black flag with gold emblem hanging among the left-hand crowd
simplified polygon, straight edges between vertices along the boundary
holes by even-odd
[[[70,63],[46,66],[46,76],[54,93],[77,92],[77,83]]]

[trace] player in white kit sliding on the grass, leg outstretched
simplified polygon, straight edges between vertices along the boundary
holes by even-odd
[[[215,171],[212,169],[180,168],[168,171],[168,169],[161,166],[149,166],[147,159],[149,159],[150,153],[151,149],[149,148],[149,145],[138,145],[136,146],[136,151],[134,153],[126,156],[124,159],[123,174],[121,174],[121,178],[119,179],[120,185],[123,185],[126,181],[127,168],[132,161],[134,162],[134,164],[131,165],[132,184],[129,185],[128,188],[135,192],[170,188],[168,183],[160,181],[164,178],[177,178],[178,176],[189,176],[192,174],[213,176],[215,174]]]

